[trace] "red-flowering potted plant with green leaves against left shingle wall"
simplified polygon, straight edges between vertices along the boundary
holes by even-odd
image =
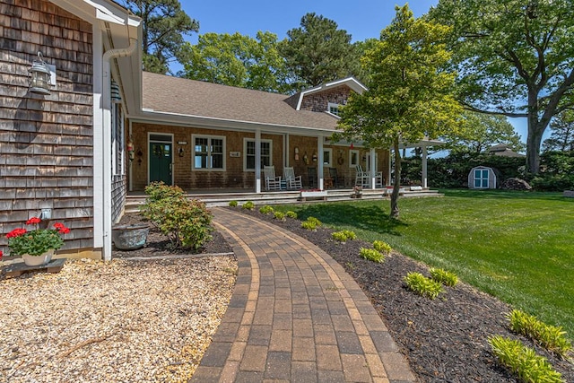
[[[36,228],[35,230],[14,229],[6,234],[11,256],[28,254],[39,257],[48,250],[57,250],[64,245],[62,234],[70,232],[70,229],[66,228],[64,223],[54,223],[53,229],[39,229],[39,222],[41,220],[37,217],[30,218],[30,220],[26,221],[26,225],[33,225]]]

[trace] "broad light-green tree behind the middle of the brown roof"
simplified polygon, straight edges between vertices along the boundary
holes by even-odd
[[[178,75],[257,91],[290,90],[287,69],[277,50],[277,35],[257,32],[257,39],[239,33],[205,33],[189,46],[189,61]]]

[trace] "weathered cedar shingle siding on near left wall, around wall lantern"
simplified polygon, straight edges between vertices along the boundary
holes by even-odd
[[[0,0],[0,247],[40,209],[93,247],[92,29],[42,0]],[[49,96],[28,91],[32,60],[56,65]]]

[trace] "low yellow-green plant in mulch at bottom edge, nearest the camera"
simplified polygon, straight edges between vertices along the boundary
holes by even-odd
[[[554,370],[546,358],[536,355],[535,350],[526,347],[520,341],[496,335],[491,336],[488,343],[500,364],[516,374],[520,381],[525,383],[563,382],[561,373]]]

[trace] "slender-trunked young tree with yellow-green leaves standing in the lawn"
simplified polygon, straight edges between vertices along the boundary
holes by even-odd
[[[440,68],[450,58],[441,40],[448,27],[414,19],[408,5],[367,50],[361,65],[370,73],[368,91],[352,93],[340,109],[342,136],[374,148],[393,148],[395,184],[391,216],[398,218],[402,143],[435,138],[457,129],[461,107],[452,94],[455,75]]]

